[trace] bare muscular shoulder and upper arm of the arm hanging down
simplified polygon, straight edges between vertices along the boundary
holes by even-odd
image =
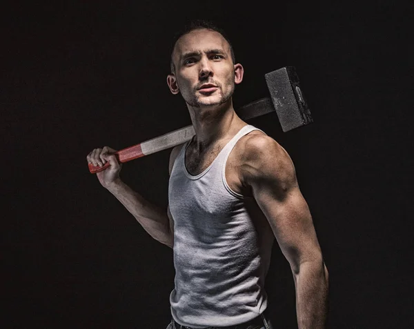
[[[320,257],[311,212],[297,183],[295,167],[282,146],[260,138],[250,147],[248,183],[292,269]]]

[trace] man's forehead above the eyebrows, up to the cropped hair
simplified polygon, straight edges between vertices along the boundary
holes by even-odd
[[[230,46],[219,32],[206,29],[193,30],[178,39],[175,45],[175,56],[180,57],[186,52],[203,52],[210,49],[228,52]]]

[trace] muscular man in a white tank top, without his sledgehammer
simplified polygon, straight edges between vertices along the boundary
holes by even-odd
[[[102,186],[173,248],[168,328],[272,328],[264,282],[276,238],[293,272],[299,329],[322,329],[328,271],[311,214],[286,150],[233,109],[243,73],[224,32],[210,23],[195,21],[177,38],[167,83],[186,101],[195,136],[172,149],[167,211],[121,181],[112,148],[87,160],[109,161],[97,173]]]

